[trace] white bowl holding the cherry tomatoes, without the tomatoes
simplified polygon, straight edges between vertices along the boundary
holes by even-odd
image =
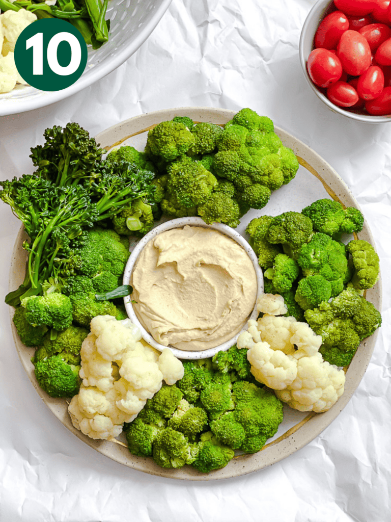
[[[307,72],[307,58],[310,54],[310,52],[313,49],[313,40],[315,36],[315,32],[317,27],[319,26],[319,22],[324,18],[326,11],[331,6],[332,2],[330,0],[318,0],[316,4],[311,8],[306,21],[304,21],[303,28],[301,30],[300,35],[300,43],[299,43],[299,54],[300,54],[300,63],[301,67],[304,73],[304,76],[306,77],[306,80],[308,82],[308,85],[312,89],[312,91],[316,94],[318,98],[320,98],[323,103],[327,105],[327,107],[338,114],[342,114],[343,116],[346,116],[350,118],[351,120],[356,120],[360,122],[366,122],[366,123],[385,123],[385,122],[391,122],[391,115],[390,116],[372,116],[371,114],[368,114],[364,112],[363,110],[357,110],[357,111],[348,111],[345,110],[342,107],[338,107],[337,105],[334,105],[331,101],[328,100],[328,98],[321,92],[319,89],[315,87],[315,85],[312,83],[310,77],[308,76]]]

